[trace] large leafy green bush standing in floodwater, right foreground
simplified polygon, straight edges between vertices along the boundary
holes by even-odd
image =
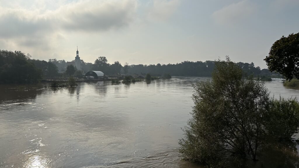
[[[265,166],[274,157],[269,146],[295,144],[298,102],[270,99],[262,83],[245,78],[228,58],[216,62],[212,81],[193,86],[195,106],[179,142],[183,159],[208,167]]]

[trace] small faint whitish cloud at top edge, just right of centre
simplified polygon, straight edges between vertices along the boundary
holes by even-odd
[[[168,19],[178,8],[179,0],[153,0],[153,7],[149,11],[149,19]]]

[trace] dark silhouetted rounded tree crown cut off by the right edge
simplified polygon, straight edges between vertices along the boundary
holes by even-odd
[[[299,79],[299,33],[282,36],[274,42],[264,60],[271,72],[277,71],[287,80]]]

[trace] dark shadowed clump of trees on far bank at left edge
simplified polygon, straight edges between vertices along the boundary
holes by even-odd
[[[42,79],[42,71],[21,51],[0,50],[0,82],[30,83]]]

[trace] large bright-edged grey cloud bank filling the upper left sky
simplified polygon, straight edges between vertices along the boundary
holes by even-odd
[[[52,10],[8,6],[0,7],[0,38],[13,39],[15,43],[30,47],[49,45],[49,40],[62,31],[98,32],[123,28],[134,20],[137,0],[78,1]]]

